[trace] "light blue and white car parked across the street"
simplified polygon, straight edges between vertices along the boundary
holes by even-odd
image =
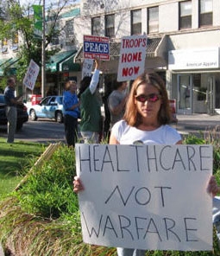
[[[47,96],[40,103],[28,106],[28,116],[32,121],[37,120],[37,118],[50,118],[62,123],[64,116],[63,96]]]

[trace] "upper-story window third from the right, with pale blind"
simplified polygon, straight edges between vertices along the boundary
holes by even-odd
[[[159,31],[159,7],[148,8],[148,34]]]

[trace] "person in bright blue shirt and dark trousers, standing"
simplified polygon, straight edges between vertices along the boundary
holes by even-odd
[[[63,94],[64,126],[68,147],[75,147],[78,138],[79,99],[76,94],[77,82],[68,80]]]

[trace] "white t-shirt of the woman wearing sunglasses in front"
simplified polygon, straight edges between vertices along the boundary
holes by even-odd
[[[169,125],[161,125],[154,131],[141,131],[124,120],[113,125],[111,133],[120,144],[177,144],[182,139]]]

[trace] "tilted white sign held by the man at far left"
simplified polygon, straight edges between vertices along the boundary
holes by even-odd
[[[35,61],[30,60],[28,71],[23,79],[23,85],[28,87],[30,90],[33,90],[39,71],[40,67],[35,63]]]

